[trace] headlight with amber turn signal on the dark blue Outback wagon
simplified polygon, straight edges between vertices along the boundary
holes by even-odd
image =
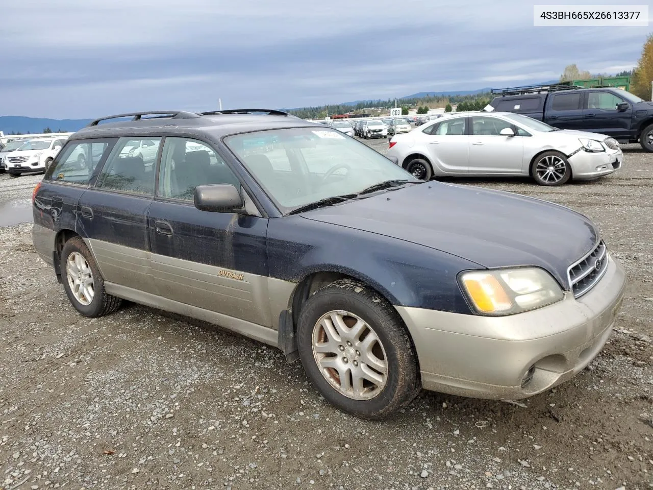
[[[460,275],[460,283],[481,315],[526,312],[564,297],[554,278],[537,267],[471,270]]]

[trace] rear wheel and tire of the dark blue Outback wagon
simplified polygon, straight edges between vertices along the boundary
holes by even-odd
[[[78,312],[95,318],[118,310],[122,300],[104,291],[104,278],[82,238],[65,243],[60,264],[63,287]]]

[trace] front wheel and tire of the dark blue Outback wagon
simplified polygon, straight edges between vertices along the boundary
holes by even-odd
[[[297,338],[306,374],[343,412],[381,419],[421,389],[401,318],[363,284],[339,280],[315,292],[300,312]]]

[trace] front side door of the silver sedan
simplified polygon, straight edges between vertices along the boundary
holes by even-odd
[[[502,136],[510,122],[492,116],[473,116],[470,135],[470,174],[518,174],[524,163],[524,139]]]

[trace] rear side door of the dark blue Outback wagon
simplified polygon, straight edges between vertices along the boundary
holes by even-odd
[[[147,140],[161,145],[161,138]],[[95,187],[80,198],[78,233],[86,238],[106,282],[155,293],[148,233],[155,172],[125,152],[133,144],[133,138],[116,142]]]

